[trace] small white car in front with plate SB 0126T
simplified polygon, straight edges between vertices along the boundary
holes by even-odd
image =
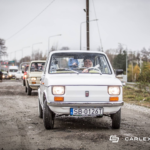
[[[80,64],[82,63],[82,65]],[[119,129],[123,105],[122,83],[103,52],[53,51],[47,58],[38,89],[39,117],[46,129],[54,127],[54,119],[102,117],[112,119]]]

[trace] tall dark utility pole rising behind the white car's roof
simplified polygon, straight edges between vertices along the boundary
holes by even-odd
[[[86,44],[87,50],[90,50],[90,32],[89,32],[89,0],[86,0]]]

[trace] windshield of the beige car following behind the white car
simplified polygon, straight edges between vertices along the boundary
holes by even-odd
[[[33,62],[30,67],[30,72],[42,72],[45,62]]]

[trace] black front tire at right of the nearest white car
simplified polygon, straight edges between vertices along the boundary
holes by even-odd
[[[112,114],[111,119],[112,119],[112,128],[113,129],[120,129],[121,109],[119,111],[117,111],[115,114]]]

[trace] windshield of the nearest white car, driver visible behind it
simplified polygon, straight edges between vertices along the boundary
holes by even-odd
[[[111,74],[107,58],[100,53],[55,53],[51,57],[49,73]]]

